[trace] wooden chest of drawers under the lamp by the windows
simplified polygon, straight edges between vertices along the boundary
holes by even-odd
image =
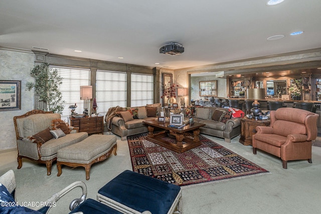
[[[79,132],[87,132],[88,134],[104,134],[103,118],[103,116],[70,118],[70,125],[79,127]]]

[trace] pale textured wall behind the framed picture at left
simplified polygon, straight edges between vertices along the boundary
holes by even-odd
[[[34,92],[26,91],[26,83],[34,81],[29,75],[34,67],[34,54],[0,50],[0,80],[21,80],[21,110],[0,111],[0,151],[17,147],[14,116],[34,107]]]

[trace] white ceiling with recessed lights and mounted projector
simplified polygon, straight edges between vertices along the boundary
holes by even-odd
[[[0,0],[0,46],[170,69],[321,47],[320,0],[266,2]],[[185,52],[159,54],[170,42]]]

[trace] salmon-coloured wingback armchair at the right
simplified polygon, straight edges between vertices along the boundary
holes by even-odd
[[[283,168],[288,160],[312,163],[312,143],[317,135],[318,115],[297,108],[279,108],[270,112],[270,126],[256,127],[252,135],[253,153],[257,149],[280,157]]]

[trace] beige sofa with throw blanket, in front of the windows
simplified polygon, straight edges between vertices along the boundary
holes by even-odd
[[[147,126],[143,123],[144,120],[153,120],[157,118],[160,103],[150,104],[139,107],[122,108],[112,118],[111,132],[120,136],[121,140],[127,136],[147,132]],[[129,113],[130,112],[130,113]],[[130,117],[129,114],[132,116]]]

